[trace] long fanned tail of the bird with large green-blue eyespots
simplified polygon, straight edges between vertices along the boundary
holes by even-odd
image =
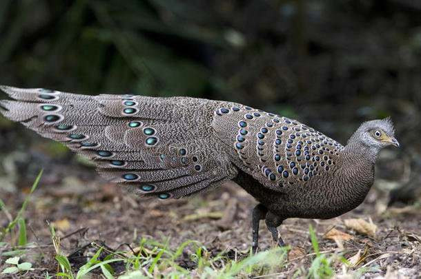
[[[4,116],[88,156],[103,176],[137,194],[178,198],[237,174],[210,139],[213,101],[0,88],[16,100],[1,101]]]

